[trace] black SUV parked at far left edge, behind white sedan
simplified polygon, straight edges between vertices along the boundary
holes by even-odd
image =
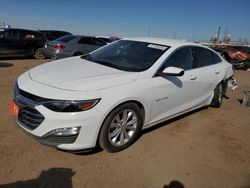
[[[42,48],[46,41],[46,37],[38,31],[0,29],[0,57],[34,56],[43,59]]]

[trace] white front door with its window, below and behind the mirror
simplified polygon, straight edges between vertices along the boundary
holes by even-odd
[[[190,47],[177,49],[165,61],[158,72],[166,67],[185,70],[183,76],[157,75],[152,78],[150,88],[152,100],[151,122],[154,123],[173,115],[185,112],[198,105],[195,70],[192,69],[192,50]]]

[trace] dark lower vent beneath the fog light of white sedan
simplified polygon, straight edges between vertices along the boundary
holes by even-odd
[[[55,144],[71,144],[74,143],[77,135],[71,135],[71,136],[55,136],[55,135],[48,135],[48,136],[43,136],[41,138],[41,141],[50,145],[55,145]]]

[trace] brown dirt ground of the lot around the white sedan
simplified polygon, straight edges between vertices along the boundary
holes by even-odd
[[[47,60],[0,60],[0,188],[250,188],[250,72],[219,109],[205,108],[144,131],[128,149],[71,154],[41,145],[9,114],[22,72]]]

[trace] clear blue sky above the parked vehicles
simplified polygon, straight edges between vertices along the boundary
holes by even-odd
[[[221,26],[250,41],[250,0],[0,0],[12,27],[74,34],[208,40]]]

